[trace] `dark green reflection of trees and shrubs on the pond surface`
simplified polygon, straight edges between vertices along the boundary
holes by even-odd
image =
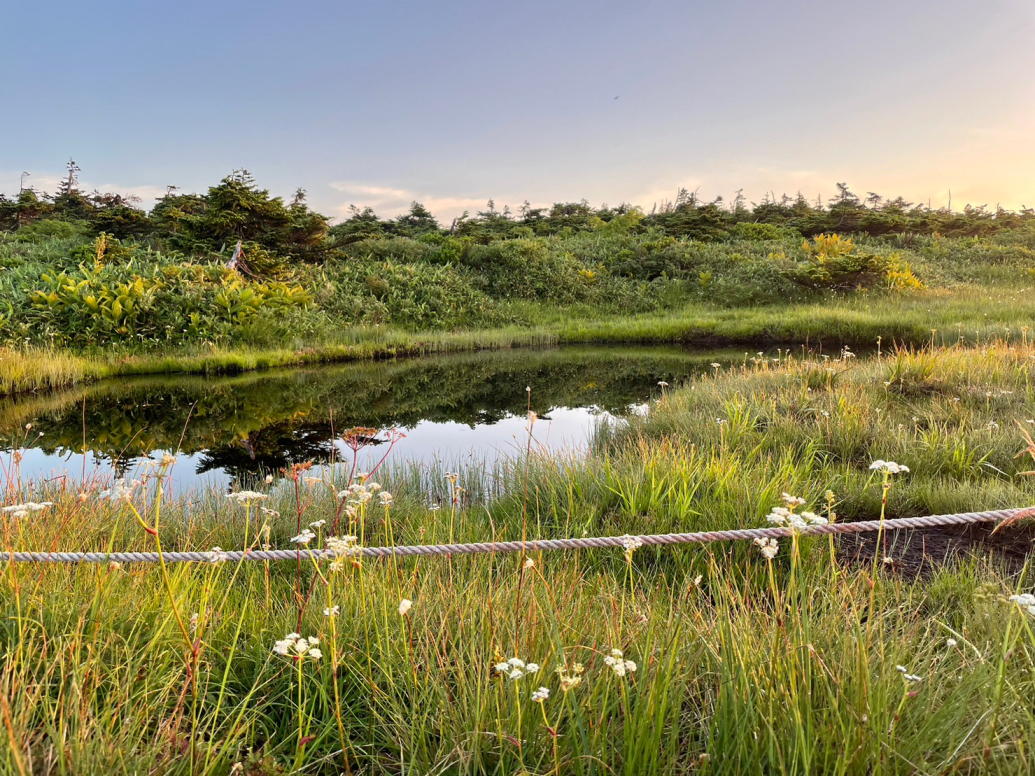
[[[353,426],[471,427],[556,408],[623,415],[676,383],[739,353],[673,348],[514,350],[356,362],[232,377],[110,380],[46,395],[0,399],[0,440],[53,456],[89,453],[116,473],[155,451],[194,455],[197,473],[234,480],[292,464],[329,460],[332,439]],[[26,423],[41,429],[27,437]]]

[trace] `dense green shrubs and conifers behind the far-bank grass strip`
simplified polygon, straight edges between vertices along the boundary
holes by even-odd
[[[457,329],[599,314],[736,307],[1017,273],[1035,264],[1035,214],[933,210],[844,185],[729,207],[681,192],[651,213],[622,205],[490,202],[441,227],[419,203],[343,222],[235,172],[150,212],[115,195],[0,197],[0,342],[53,346],[312,340],[354,325]]]

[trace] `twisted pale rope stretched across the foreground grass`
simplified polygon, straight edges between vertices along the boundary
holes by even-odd
[[[972,523],[999,523],[1011,517],[1035,515],[1035,507],[995,509],[987,512],[934,514],[925,517],[896,517],[887,520],[831,523],[806,528],[745,528],[733,531],[701,531],[692,534],[647,534],[644,536],[596,536],[582,539],[530,539],[528,541],[490,541],[468,544],[417,544],[394,547],[356,547],[352,555],[363,558],[388,556],[477,555],[480,553],[535,553],[544,549],[595,549],[642,545],[707,544],[716,541],[788,536],[826,536],[829,534],[862,534],[871,531],[964,526]],[[329,560],[338,557],[331,549],[246,549],[232,551],[162,553],[167,563],[211,563],[216,561],[287,561],[297,558]],[[157,553],[6,553],[0,559],[7,563],[157,563]]]

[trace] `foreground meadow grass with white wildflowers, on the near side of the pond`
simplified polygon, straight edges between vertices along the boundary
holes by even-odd
[[[0,516],[5,548],[212,562],[6,564],[0,769],[1029,773],[1035,617],[1010,599],[1033,586],[1026,525],[928,532],[956,547],[929,562],[898,535],[786,539],[771,559],[749,543],[352,554],[765,526],[783,494],[831,520],[1035,504],[1024,335],[869,358],[750,352],[711,371],[662,386],[584,457],[530,444],[495,472],[389,455],[366,478],[300,466],[254,493],[170,500],[161,461],[103,495],[23,482],[11,459],[5,504],[22,506]],[[338,557],[219,561],[295,537]]]

